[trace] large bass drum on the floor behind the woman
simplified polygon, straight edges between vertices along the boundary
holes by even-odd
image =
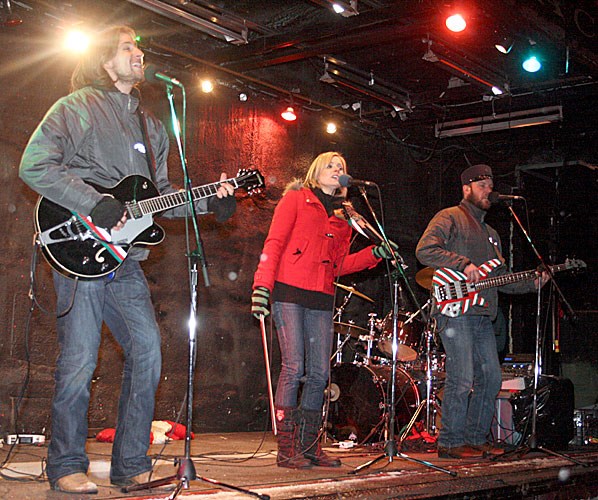
[[[392,367],[341,364],[332,368],[328,429],[338,441],[374,441],[384,430],[384,402],[390,398]],[[419,392],[409,374],[397,367],[395,431],[406,425],[419,405]]]

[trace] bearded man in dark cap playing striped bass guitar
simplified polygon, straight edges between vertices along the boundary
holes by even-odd
[[[473,283],[489,272],[493,276],[507,274],[498,233],[484,222],[490,208],[488,195],[494,187],[491,168],[467,168],[461,174],[461,184],[461,203],[433,217],[417,245],[418,260],[433,268],[455,270]],[[547,279],[543,273],[542,283]],[[537,278],[488,288],[476,294],[474,303],[459,305],[458,310],[447,307],[439,311],[444,314],[438,318],[438,328],[446,352],[439,457],[481,458],[504,452],[487,442],[502,382],[492,327],[497,290],[526,293],[536,287]]]

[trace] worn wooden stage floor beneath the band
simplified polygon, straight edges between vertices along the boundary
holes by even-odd
[[[568,456],[587,465],[583,467],[538,451],[496,462],[439,459],[435,451],[425,451],[423,442],[414,447],[415,444],[405,443],[401,451],[404,456],[394,457],[392,461],[383,455],[381,445],[342,450],[338,446],[325,447],[341,458],[342,467],[299,471],[276,466],[276,444],[270,432],[199,434],[192,441],[190,453],[198,479],[191,481],[179,497],[186,500],[252,497],[213,484],[213,480],[249,490],[254,498],[260,494],[273,499],[598,497],[598,446],[567,451]],[[416,452],[409,448],[419,449]],[[0,449],[3,462],[10,449],[6,444]],[[46,451],[45,445],[13,447],[8,463],[2,469],[0,498],[79,497],[50,490],[43,476]],[[169,493],[156,490],[123,493],[112,486],[108,479],[110,451],[110,444],[91,439],[88,442],[90,477],[99,487],[99,493],[89,498],[168,497]],[[155,457],[160,454],[155,467],[157,477],[174,475],[177,472],[175,459],[185,455],[184,442],[152,445],[150,453]],[[382,459],[374,465],[353,473],[359,465],[379,456]],[[426,461],[444,470],[415,460]]]

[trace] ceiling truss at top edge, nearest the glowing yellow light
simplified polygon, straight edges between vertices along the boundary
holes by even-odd
[[[198,12],[192,13],[160,0],[127,1],[234,45],[247,43],[247,27],[238,20],[227,19],[219,11],[189,4],[190,9],[193,8]]]

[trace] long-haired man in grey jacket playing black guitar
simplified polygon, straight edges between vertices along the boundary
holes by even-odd
[[[125,206],[92,184],[112,187],[136,175],[151,178],[160,194],[176,191],[167,174],[168,135],[159,120],[141,110],[136,85],[143,79],[143,52],[133,30],[117,26],[96,34],[73,72],[72,92],[43,118],[20,165],[21,178],[37,193],[90,216],[94,227],[114,235],[127,222]],[[213,211],[219,221],[226,220],[235,210],[232,193],[230,184],[221,183],[214,196],[196,203],[198,213]],[[164,215],[182,216],[185,210],[180,206],[178,212]],[[95,279],[53,273],[60,345],[46,468],[53,489],[98,491],[87,477],[85,444],[103,322],[125,357],[110,479],[120,486],[148,481],[161,354],[160,332],[139,264],[147,254],[147,249],[133,247],[115,271]]]

